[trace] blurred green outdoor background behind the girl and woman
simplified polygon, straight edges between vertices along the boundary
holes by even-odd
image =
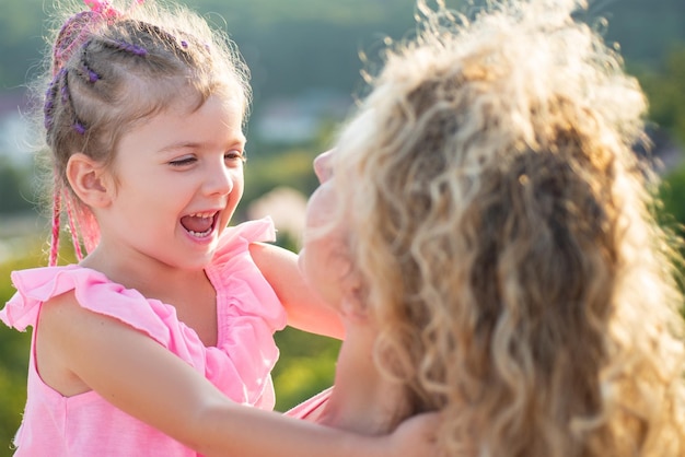
[[[414,26],[414,0],[186,0],[229,32],[252,70],[246,190],[233,222],[271,214],[278,243],[298,249],[304,199],[316,186],[311,161],[363,89],[360,52],[374,61],[386,37]],[[448,0],[457,7],[458,0]],[[30,152],[27,82],[42,71],[51,0],[0,0],[0,305],[10,271],[46,263],[48,226]],[[685,222],[685,2],[590,1],[587,20],[616,42],[650,99],[653,155],[661,162],[664,223]],[[608,26],[601,20],[608,21]],[[678,232],[682,233],[682,232]],[[68,243],[63,243],[68,245]],[[65,250],[62,262],[69,261]],[[25,401],[28,333],[0,325],[0,457]],[[287,329],[277,335],[277,409],[332,384],[339,342]]]

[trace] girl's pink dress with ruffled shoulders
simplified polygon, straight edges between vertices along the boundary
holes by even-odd
[[[94,270],[76,265],[12,273],[18,293],[0,310],[0,320],[19,330],[35,329],[40,306],[73,290],[81,306],[114,317],[147,333],[210,379],[240,403],[274,408],[270,371],[278,359],[274,332],[286,325],[285,310],[249,256],[251,242],[272,241],[269,219],[231,227],[207,267],[217,291],[218,343],[207,348],[176,317],[173,306],[148,300]],[[95,391],[62,397],[36,371],[34,330],[28,390],[18,456],[131,457],[196,456],[189,449],[114,408]],[[170,398],[170,401],[173,399]]]

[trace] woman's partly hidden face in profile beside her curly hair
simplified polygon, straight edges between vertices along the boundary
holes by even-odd
[[[347,246],[348,227],[339,216],[340,201],[330,169],[334,153],[324,152],[314,160],[314,172],[321,185],[306,206],[299,265],[316,293],[326,303],[337,307],[352,273]]]

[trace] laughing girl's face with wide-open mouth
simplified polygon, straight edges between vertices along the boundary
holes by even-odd
[[[240,97],[179,103],[124,134],[98,211],[101,246],[139,261],[201,269],[243,195]],[[115,254],[116,255],[116,254]]]

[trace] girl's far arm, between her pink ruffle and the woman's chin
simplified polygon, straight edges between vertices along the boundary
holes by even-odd
[[[306,284],[297,254],[264,243],[252,243],[249,254],[286,307],[289,326],[342,339],[345,328],[340,315]]]

